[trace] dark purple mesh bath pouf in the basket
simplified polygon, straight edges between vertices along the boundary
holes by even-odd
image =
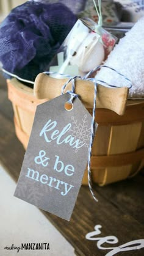
[[[34,81],[56,54],[76,16],[63,4],[28,1],[10,12],[0,26],[3,68]]]

